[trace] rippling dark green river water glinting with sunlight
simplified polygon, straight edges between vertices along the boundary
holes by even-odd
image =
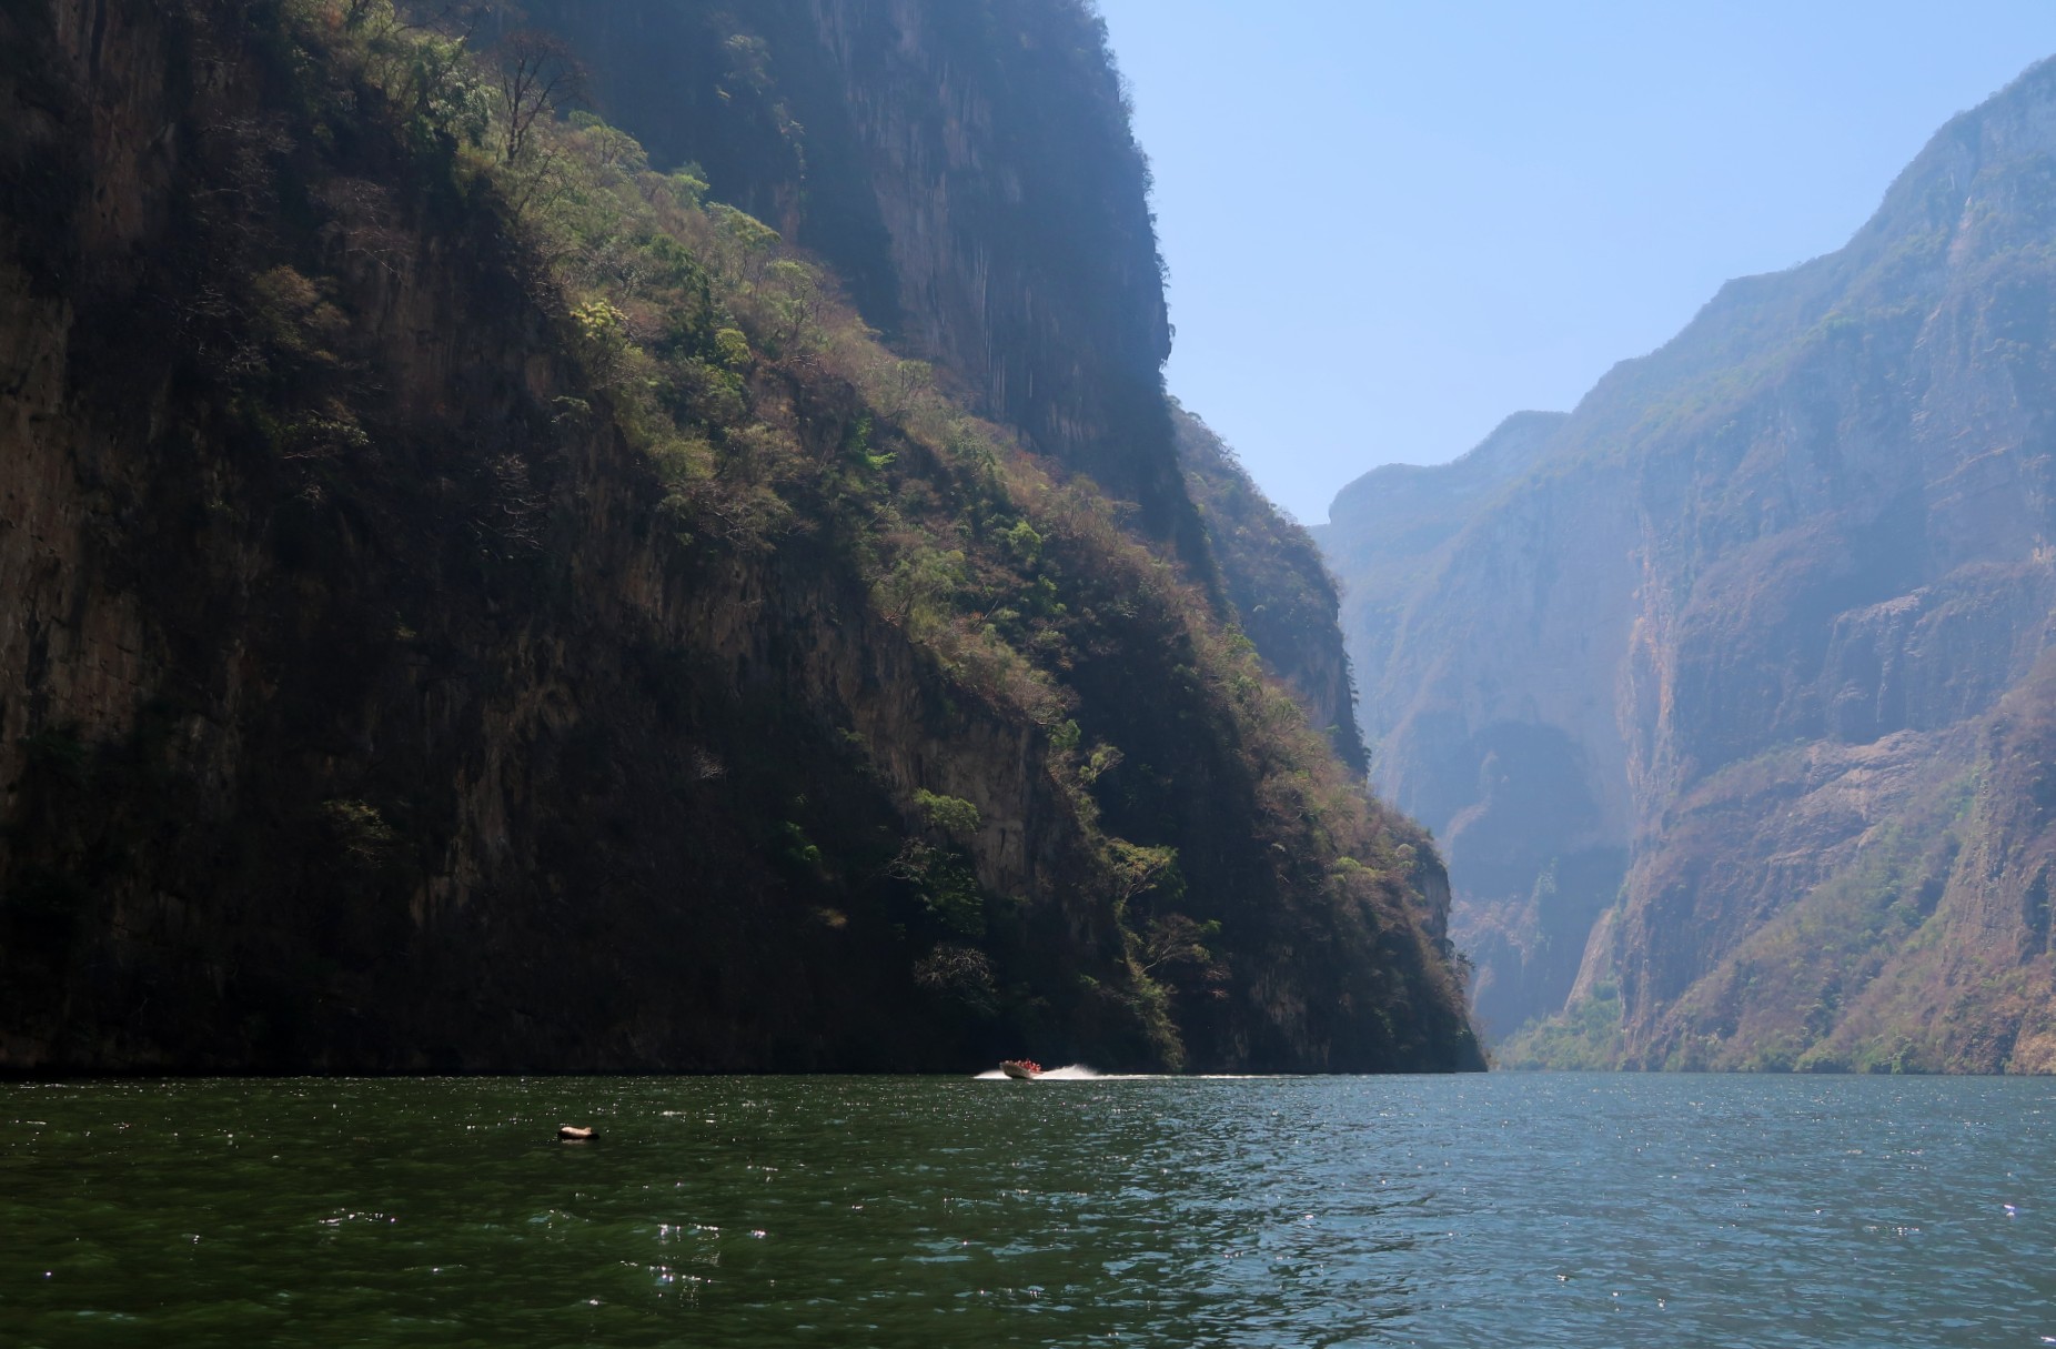
[[[2046,1080],[121,1082],[0,1127],[4,1345],[2056,1343]]]

